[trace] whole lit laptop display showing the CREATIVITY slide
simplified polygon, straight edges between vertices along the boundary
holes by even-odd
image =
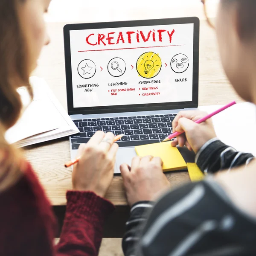
[[[194,26],[70,30],[73,108],[192,102]]]

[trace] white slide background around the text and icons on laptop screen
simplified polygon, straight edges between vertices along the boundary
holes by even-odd
[[[127,31],[137,32],[143,30],[147,36],[148,31],[155,30],[156,42],[152,40],[140,43],[136,40],[136,35],[131,35],[131,44],[128,44],[126,37]],[[169,36],[163,33],[163,40],[158,40],[158,29],[166,29],[171,32],[175,29],[172,36],[172,43],[169,42]],[[116,42],[119,32],[123,32],[125,44],[119,42],[118,45],[95,45],[90,46],[86,43],[86,37],[92,33],[95,38],[90,41],[96,42],[97,34],[105,34],[108,32],[116,32]],[[148,103],[165,103],[165,102],[185,102],[192,101],[192,83],[193,83],[193,34],[194,24],[175,24],[160,26],[138,26],[125,28],[108,28],[108,29],[86,29],[70,31],[70,50],[71,50],[71,66],[72,66],[72,82],[73,82],[73,104],[74,108],[98,107],[98,106],[114,106],[114,105],[132,105],[132,104],[148,104]],[[105,41],[106,42],[106,41]],[[171,45],[169,47],[161,47]],[[157,46],[157,47],[156,47]],[[139,49],[119,49],[116,48],[136,48],[136,47],[153,47]],[[92,52],[79,52],[90,50],[102,50]],[[109,50],[115,49],[115,50]],[[137,59],[144,52],[155,52],[160,56],[162,68],[160,73],[152,79],[145,79],[137,73]],[[176,54],[184,54],[189,58],[189,67],[184,73],[175,73],[170,66],[172,58]],[[126,71],[120,77],[113,77],[108,73],[108,63],[112,58],[122,58],[126,63]],[[90,79],[84,79],[79,76],[78,65],[84,59],[90,59],[96,64],[96,73]],[[167,67],[166,67],[166,64]],[[131,65],[134,67],[132,69]],[[103,70],[101,71],[101,68]],[[183,82],[175,82],[175,79],[186,79]],[[139,84],[139,81],[161,80],[160,84]],[[127,85],[109,86],[110,83],[127,82]],[[85,88],[77,88],[77,85],[83,84],[99,84],[99,87],[93,87],[91,92],[84,92]],[[142,91],[143,87],[158,87],[158,90]],[[117,95],[111,95],[111,90],[123,88],[135,88],[135,91],[118,92]],[[139,90],[140,88],[140,90]],[[108,92],[110,90],[110,92]],[[142,96],[142,93],[155,93],[160,95]],[[139,95],[140,94],[140,95]]]

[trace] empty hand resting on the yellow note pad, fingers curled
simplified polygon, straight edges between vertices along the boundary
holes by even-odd
[[[131,167],[120,166],[129,205],[138,201],[154,201],[170,183],[162,170],[163,162],[159,157],[134,157]]]

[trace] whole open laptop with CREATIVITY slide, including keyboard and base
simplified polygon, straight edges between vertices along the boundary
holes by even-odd
[[[197,17],[64,26],[71,159],[96,131],[125,134],[115,173],[134,146],[159,143],[181,110],[198,108]]]

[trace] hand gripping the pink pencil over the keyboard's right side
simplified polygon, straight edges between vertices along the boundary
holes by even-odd
[[[172,122],[173,132],[183,132],[172,142],[172,146],[179,145],[186,147],[189,150],[193,150],[195,153],[210,139],[215,138],[212,119],[207,119],[201,124],[197,124],[196,121],[207,113],[203,111],[180,111]]]

